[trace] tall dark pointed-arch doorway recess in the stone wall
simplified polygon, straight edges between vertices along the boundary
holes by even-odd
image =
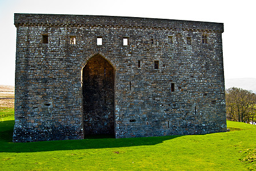
[[[91,135],[114,137],[114,67],[97,54],[82,69],[83,129]]]

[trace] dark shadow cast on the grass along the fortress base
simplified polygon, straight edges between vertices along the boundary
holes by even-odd
[[[141,137],[129,139],[85,139],[85,140],[62,140],[62,141],[41,141],[33,143],[11,143],[14,121],[3,121],[7,125],[5,130],[0,129],[0,152],[22,153],[22,152],[47,152],[54,150],[75,150],[75,149],[97,149],[97,148],[118,148],[126,146],[155,145],[165,140],[171,140],[181,136],[162,137]],[[6,130],[7,129],[7,130]]]

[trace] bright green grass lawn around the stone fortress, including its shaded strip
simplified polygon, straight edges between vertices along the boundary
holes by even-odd
[[[244,123],[208,135],[35,143],[11,143],[13,125],[10,115],[0,122],[0,170],[256,169],[256,126]]]

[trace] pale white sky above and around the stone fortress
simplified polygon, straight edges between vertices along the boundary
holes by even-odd
[[[14,13],[111,15],[224,23],[225,79],[256,78],[256,10],[253,0],[0,0],[0,84],[13,86]]]

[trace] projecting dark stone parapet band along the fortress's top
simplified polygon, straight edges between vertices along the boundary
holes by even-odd
[[[14,25],[107,25],[156,28],[188,28],[223,32],[223,23],[183,21],[175,19],[117,17],[104,15],[14,14]]]

